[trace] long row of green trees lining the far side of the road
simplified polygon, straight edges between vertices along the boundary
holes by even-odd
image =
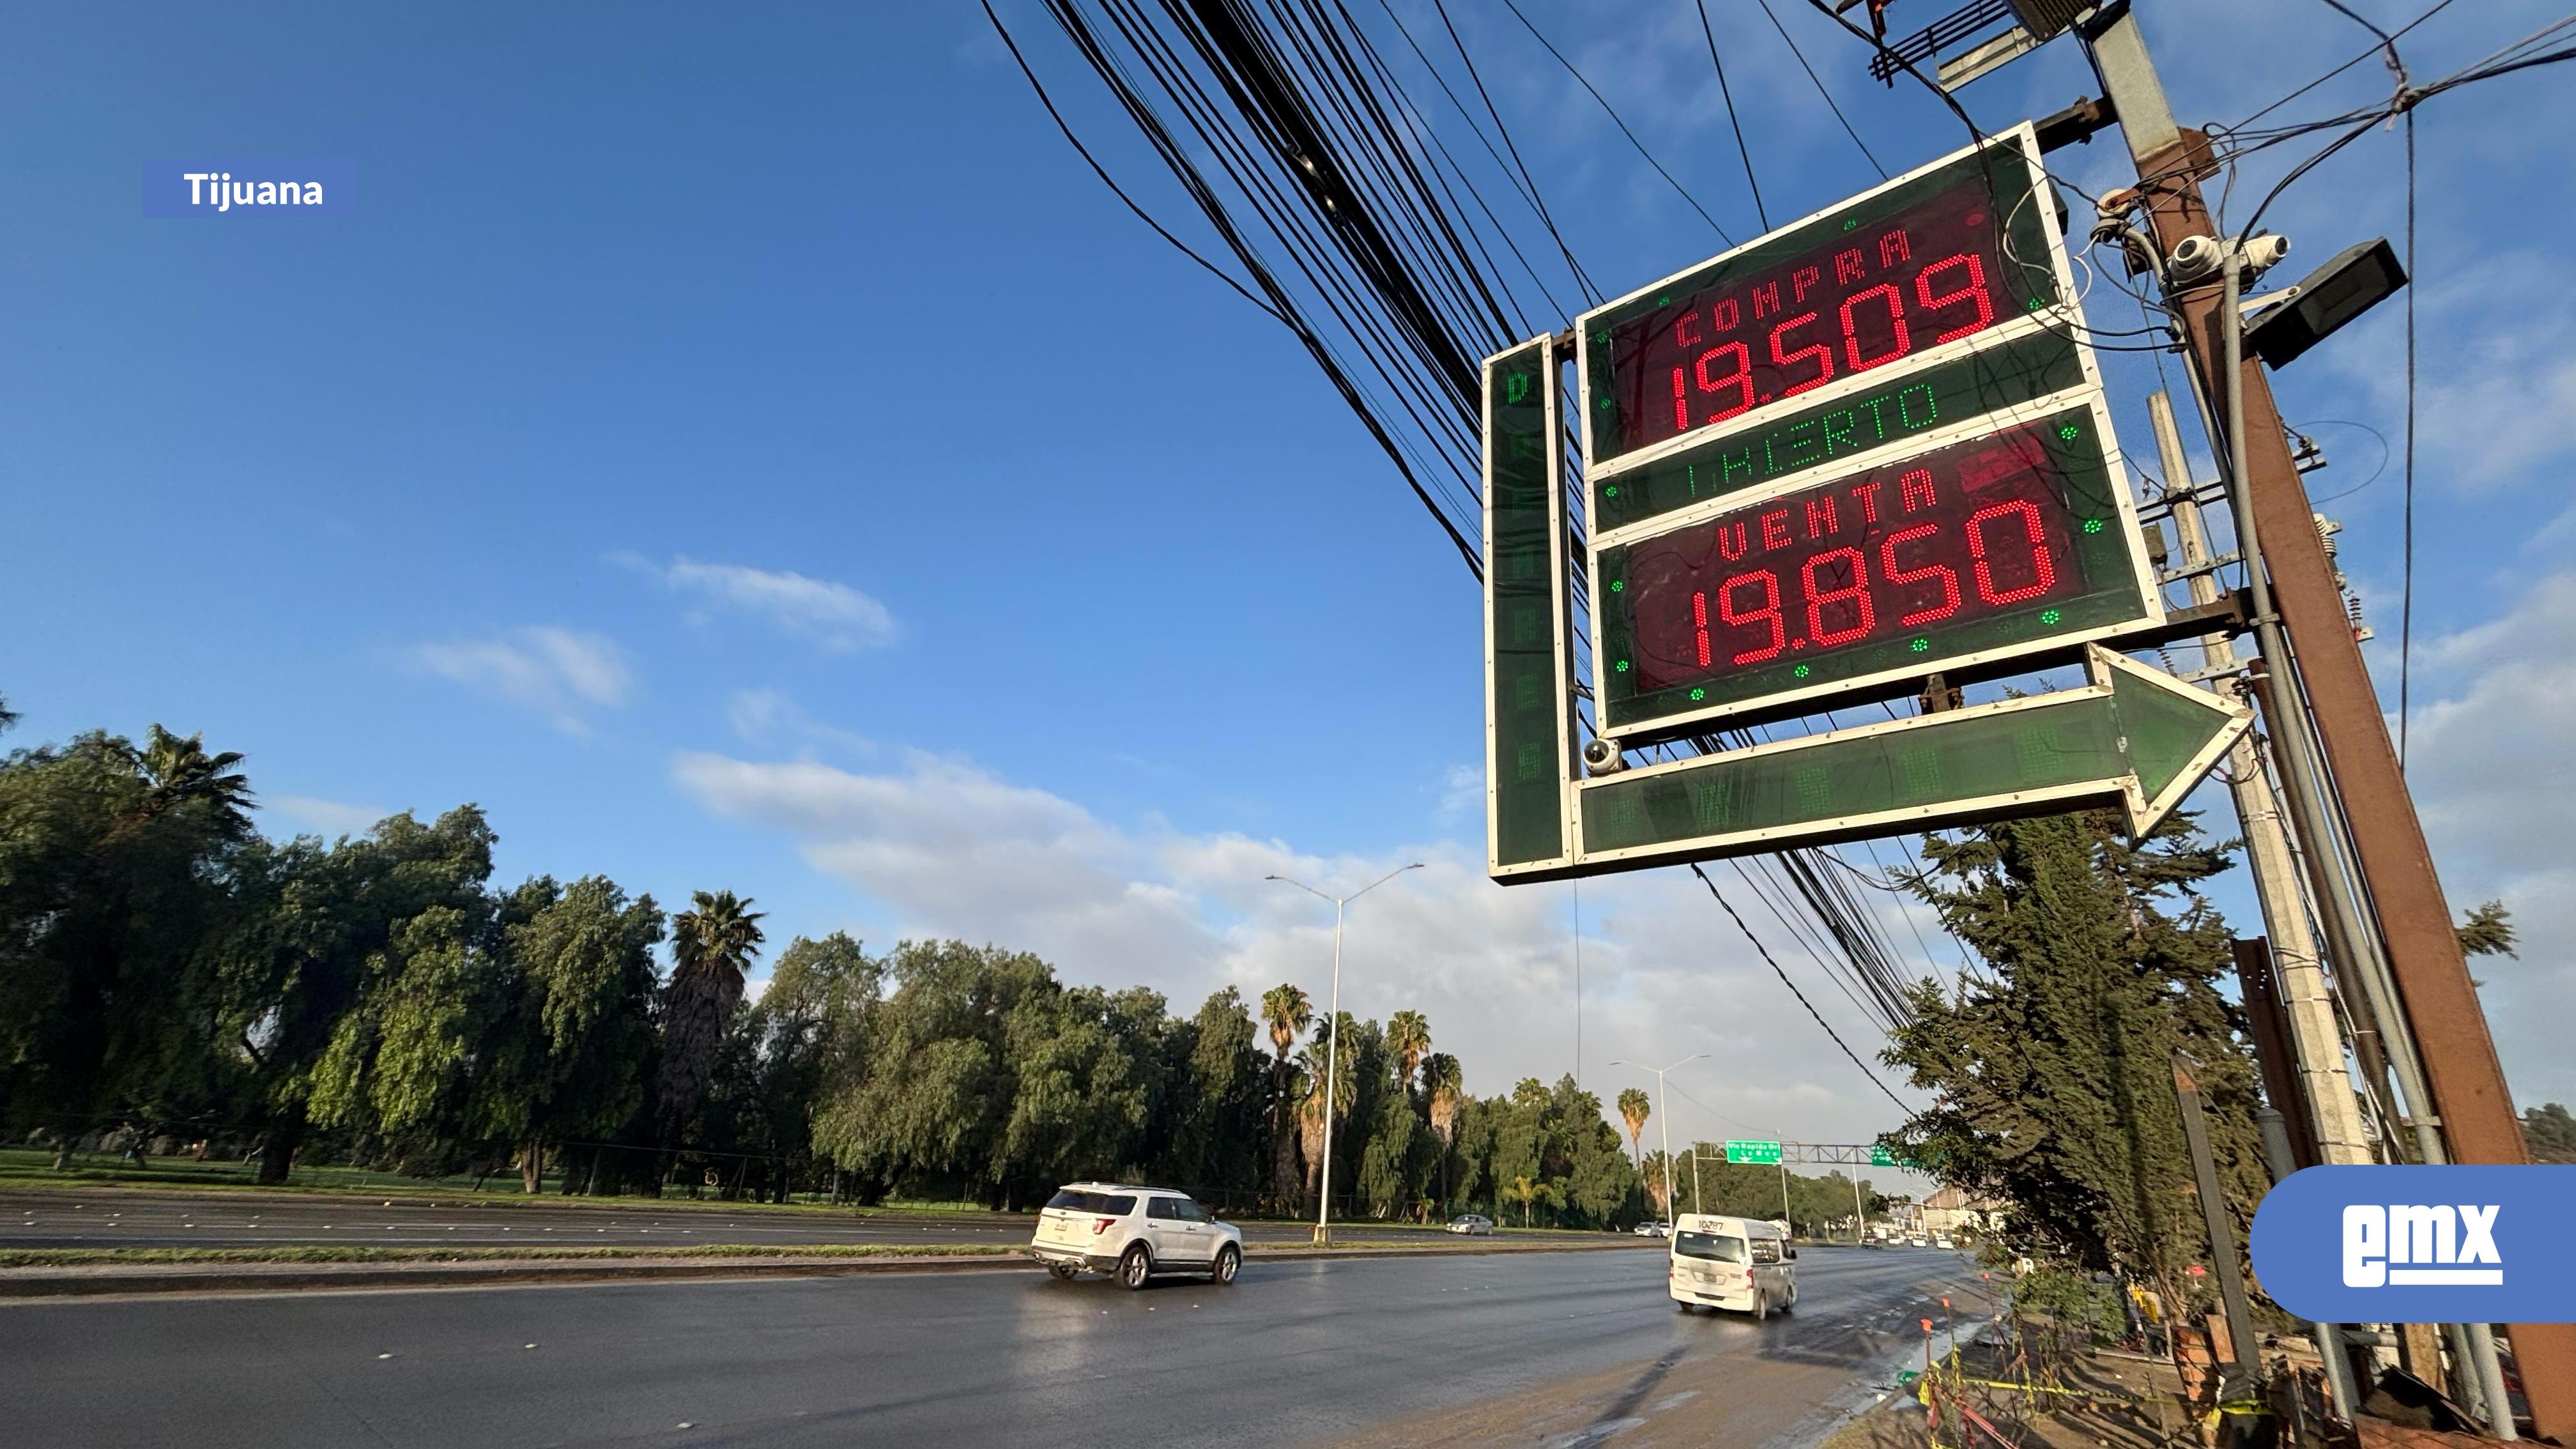
[[[1334,1217],[1649,1214],[1633,1104],[1623,1142],[1571,1078],[1479,1098],[1417,1011],[1321,1021],[1280,985],[1175,1013],[840,933],[752,993],[744,895],[505,887],[471,804],[337,841],[255,810],[240,755],[162,727],[0,758],[0,1181],[1030,1209],[1113,1176],[1311,1214],[1340,1034]],[[1839,1178],[1808,1196],[1850,1214]]]

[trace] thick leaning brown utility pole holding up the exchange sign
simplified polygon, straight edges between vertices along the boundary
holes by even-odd
[[[2184,134],[2174,124],[2136,15],[2128,5],[2105,5],[2081,34],[2138,168],[2156,253],[2172,258],[2187,240],[2213,237],[2197,180],[2210,168],[2208,137]],[[2318,910],[2329,923],[2344,918],[2344,933],[2354,936],[2354,951],[2342,962],[2360,977],[2365,995],[2388,998],[2370,1006],[2401,1078],[2421,1075],[2421,1093],[2414,1083],[2401,1085],[2406,1127],[2416,1132],[2424,1160],[2527,1163],[2504,1065],[2486,1031],[2424,825],[2406,794],[2334,565],[2282,436],[2272,384],[2259,361],[2241,356],[2236,248],[2221,240],[2218,253],[2223,286],[2172,291],[2169,304],[2205,392],[2223,392],[2228,400],[2223,456],[2231,462],[2236,531],[2246,541],[2257,632],[2275,686],[2272,737],[2285,750],[2285,784],[2306,792],[2306,799],[2293,799],[2300,807],[2300,838],[2311,864],[2339,866],[2349,848],[2357,866],[2349,897],[2331,879],[2339,871],[2329,871],[2329,897],[2318,900]],[[2262,549],[2254,547],[2257,539]],[[2342,838],[2334,815],[2342,817]],[[2543,1436],[2576,1441],[2576,1323],[2517,1323],[2509,1333],[2532,1426]],[[2488,1426],[2512,1439],[2514,1418],[2486,1325],[2465,1325],[2463,1341],[2470,1348],[2463,1369],[2481,1382]]]

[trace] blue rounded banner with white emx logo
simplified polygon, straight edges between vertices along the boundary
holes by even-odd
[[[2313,1323],[2576,1323],[2576,1168],[2306,1168],[2254,1276]]]

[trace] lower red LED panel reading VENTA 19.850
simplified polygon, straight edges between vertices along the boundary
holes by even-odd
[[[1605,727],[2148,611],[2092,407],[1600,552]]]

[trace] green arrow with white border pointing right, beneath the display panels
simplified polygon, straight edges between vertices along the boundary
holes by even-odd
[[[1577,866],[1710,861],[2117,804],[2146,835],[2254,722],[2087,645],[2092,683],[1649,766],[1577,786]]]

